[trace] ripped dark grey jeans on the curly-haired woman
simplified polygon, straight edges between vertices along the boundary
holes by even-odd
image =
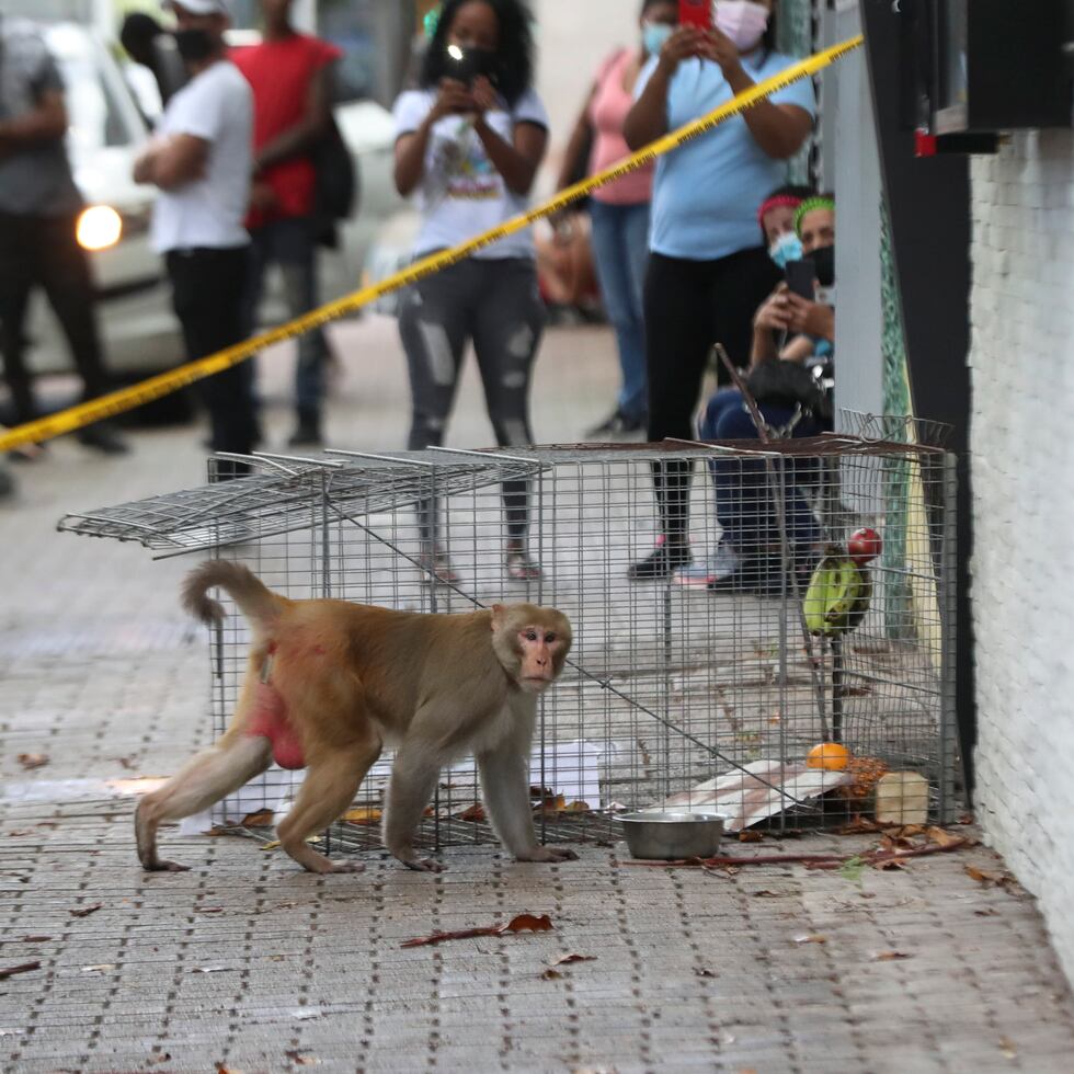
[[[421,450],[443,443],[470,340],[496,444],[532,444],[529,385],[544,329],[537,268],[528,258],[468,258],[411,287],[399,310],[413,407],[407,446]],[[529,482],[505,481],[503,505],[509,539],[522,541]],[[435,503],[419,505],[425,541],[435,511]]]

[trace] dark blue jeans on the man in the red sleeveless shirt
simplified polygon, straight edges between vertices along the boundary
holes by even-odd
[[[299,317],[317,306],[317,242],[309,217],[271,220],[250,232],[250,268],[243,304],[247,331],[258,327],[258,307],[264,290],[265,271],[279,265],[284,281],[284,301],[290,317]],[[298,338],[295,366],[295,403],[299,416],[316,421],[324,398],[324,365],[328,344],[319,328]]]

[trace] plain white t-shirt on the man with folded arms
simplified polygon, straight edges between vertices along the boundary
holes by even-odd
[[[153,205],[151,239],[159,253],[186,247],[232,248],[250,241],[242,220],[253,168],[253,92],[230,60],[217,60],[169,102],[159,134],[209,144],[205,175]]]

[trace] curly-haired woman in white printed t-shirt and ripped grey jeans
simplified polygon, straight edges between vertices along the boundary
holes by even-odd
[[[530,14],[521,0],[447,0],[418,89],[396,101],[395,180],[416,195],[424,256],[525,210],[545,156],[548,118],[534,92]],[[473,342],[501,447],[533,443],[529,385],[544,329],[529,230],[501,239],[416,284],[399,313],[413,400],[409,447],[441,444],[466,345]],[[529,558],[526,481],[506,481],[509,576],[539,576]],[[456,575],[435,541],[436,504],[419,509],[423,567]]]

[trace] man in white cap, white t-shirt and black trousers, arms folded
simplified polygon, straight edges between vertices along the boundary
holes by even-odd
[[[253,94],[226,55],[222,0],[172,0],[170,7],[191,80],[168,102],[134,178],[160,188],[150,235],[164,255],[186,357],[194,361],[245,338],[250,236],[242,221],[253,168]],[[198,387],[213,450],[248,455],[259,436],[249,363]],[[226,472],[247,470],[235,464]]]

